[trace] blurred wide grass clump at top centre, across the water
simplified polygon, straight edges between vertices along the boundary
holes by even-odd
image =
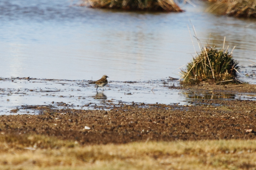
[[[181,12],[173,0],[83,0],[85,6],[92,8],[112,8],[140,11]]]

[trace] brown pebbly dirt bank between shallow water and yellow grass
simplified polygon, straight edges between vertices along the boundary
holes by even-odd
[[[2,115],[0,129],[2,136],[46,135],[82,145],[256,138],[253,131],[256,131],[256,101],[204,103],[204,106],[142,105],[144,108],[120,104],[109,111],[37,107],[43,114]],[[85,130],[84,126],[91,129]]]

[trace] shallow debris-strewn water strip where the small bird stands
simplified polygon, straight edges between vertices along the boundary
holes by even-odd
[[[98,109],[98,106],[119,103],[190,105],[201,100],[256,100],[255,94],[202,93],[177,89],[170,80],[120,82],[110,81],[96,91],[95,85],[82,80],[2,79],[0,80],[0,115],[35,114],[36,105],[55,108]],[[198,104],[198,103],[197,103]],[[11,110],[19,109],[17,113]],[[108,109],[108,108],[106,108]]]

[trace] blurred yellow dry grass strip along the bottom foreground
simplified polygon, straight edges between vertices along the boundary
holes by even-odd
[[[44,136],[27,136],[18,142],[15,137],[1,135],[0,140],[1,170],[256,168],[255,140],[146,141],[83,147]],[[45,149],[27,147],[35,142],[45,143]]]

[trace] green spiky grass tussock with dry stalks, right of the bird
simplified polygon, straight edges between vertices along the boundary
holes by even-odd
[[[231,52],[232,54],[232,52]],[[216,49],[204,47],[201,54],[193,57],[186,70],[181,70],[181,84],[194,85],[204,83],[239,83],[237,72],[238,62],[229,54],[228,48]]]

